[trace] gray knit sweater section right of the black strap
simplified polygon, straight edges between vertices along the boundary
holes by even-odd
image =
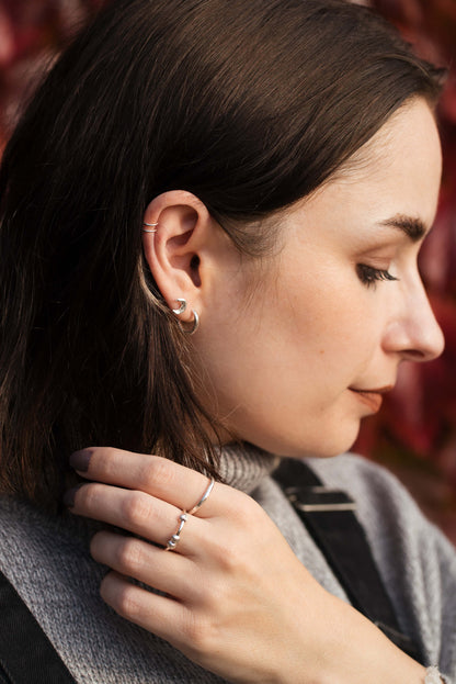
[[[329,486],[351,493],[399,623],[456,684],[456,549],[384,468],[354,455],[310,459]]]

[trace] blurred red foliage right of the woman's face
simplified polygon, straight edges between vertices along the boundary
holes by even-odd
[[[446,347],[432,363],[403,363],[384,410],[356,448],[388,464],[456,542],[456,1],[373,0],[420,56],[449,68],[438,105],[443,183],[420,269]]]

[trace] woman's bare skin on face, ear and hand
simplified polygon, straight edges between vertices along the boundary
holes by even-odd
[[[417,269],[422,238],[403,229],[417,233],[418,221],[430,228],[440,176],[435,122],[417,100],[337,178],[273,217],[280,248],[261,265],[238,255],[193,195],[168,192],[150,203],[145,221],[159,227],[144,235],[146,258],[169,306],[178,296],[189,302],[183,324],[192,309],[200,313],[191,339],[202,399],[231,433],[277,453],[332,456],[378,407],[378,392],[354,390],[391,386],[401,361],[442,351]],[[402,228],[384,225],[399,216]],[[397,280],[366,283],[366,273],[379,277],[366,266]],[[79,472],[92,482],[77,491],[73,513],[159,545],[207,486],[156,456],[92,448],[72,458],[80,468],[78,458],[90,459]],[[420,664],[314,580],[252,498],[224,484],[189,516],[175,552],[107,531],[91,551],[113,569],[101,586],[107,604],[229,681],[424,680]]]

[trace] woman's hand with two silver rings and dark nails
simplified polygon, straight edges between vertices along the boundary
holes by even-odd
[[[167,553],[144,539],[166,547],[207,478],[155,456],[109,448],[78,453],[80,462],[90,456],[88,470],[78,472],[96,482],[78,489],[72,512],[142,538],[102,531],[92,540],[93,558],[113,569],[101,595],[119,615],[232,682],[422,681],[421,665],[314,580],[247,494],[216,483]],[[409,661],[397,679],[386,655],[391,668],[404,666],[402,657]]]

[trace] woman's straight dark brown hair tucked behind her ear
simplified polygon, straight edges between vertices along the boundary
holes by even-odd
[[[110,3],[0,170],[1,487],[53,505],[91,444],[214,470],[186,338],[142,259],[145,208],[191,191],[253,258],[271,243],[262,217],[410,98],[434,102],[440,77],[341,0]]]

